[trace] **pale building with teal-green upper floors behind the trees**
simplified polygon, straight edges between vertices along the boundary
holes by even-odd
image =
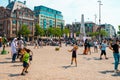
[[[38,18],[40,27],[46,29],[48,27],[63,27],[64,20],[60,11],[45,7],[35,6],[35,16]]]

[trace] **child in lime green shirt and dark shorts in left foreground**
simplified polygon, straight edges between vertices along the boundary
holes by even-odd
[[[22,59],[23,60],[23,70],[22,70],[21,75],[25,75],[24,72],[28,73],[27,69],[29,67],[30,54],[27,53],[27,51],[25,49],[22,49],[20,52],[23,54],[23,59]]]

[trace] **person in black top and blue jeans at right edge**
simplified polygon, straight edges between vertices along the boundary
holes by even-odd
[[[116,41],[115,44],[111,44],[109,46],[109,48],[113,51],[113,57],[114,57],[114,61],[115,61],[114,71],[119,72],[119,70],[118,70],[119,58],[120,58],[120,55],[119,55],[119,48],[120,48],[119,41]]]

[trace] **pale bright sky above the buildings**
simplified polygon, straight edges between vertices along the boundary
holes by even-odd
[[[11,0],[13,1],[13,0]],[[18,1],[18,0],[17,0]],[[25,1],[25,0],[19,0]],[[120,0],[101,0],[101,24],[111,24],[118,31],[120,25]],[[0,6],[6,7],[8,0],[0,0]],[[65,24],[81,22],[81,15],[84,14],[84,21],[99,23],[98,0],[26,0],[26,5],[34,10],[34,6],[44,5],[46,7],[62,12]]]

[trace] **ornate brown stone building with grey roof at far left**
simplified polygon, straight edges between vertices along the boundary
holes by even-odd
[[[0,35],[7,38],[17,37],[22,25],[30,29],[29,37],[34,36],[34,12],[26,7],[26,1],[10,1],[6,8],[0,7]]]

